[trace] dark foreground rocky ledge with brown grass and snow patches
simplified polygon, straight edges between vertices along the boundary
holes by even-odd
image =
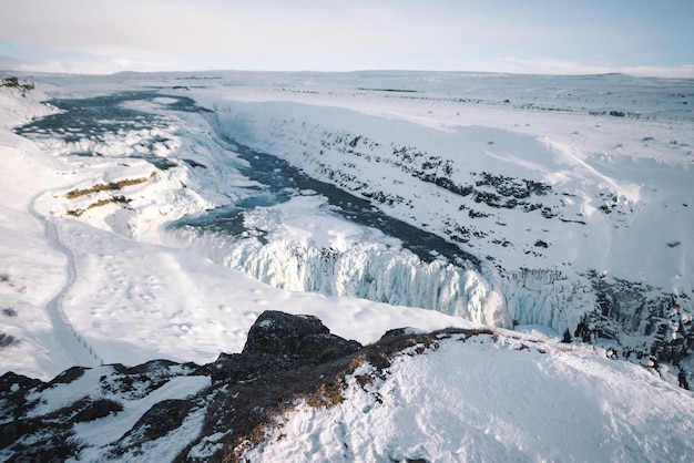
[[[356,368],[369,362],[380,371],[397,352],[435,344],[437,336],[399,329],[364,347],[316,317],[266,311],[241,353],[205,366],[73,367],[50,382],[8,372],[0,377],[0,460],[238,461],[299,401],[339,403]]]

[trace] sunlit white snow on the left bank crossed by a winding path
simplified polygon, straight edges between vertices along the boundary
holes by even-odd
[[[7,96],[2,107],[7,109],[3,127],[50,111],[30,96]],[[14,113],[23,114],[22,119],[13,119]],[[68,160],[60,154],[93,146],[65,147],[62,142],[39,146],[8,128],[0,136],[4,218],[0,246],[6,266],[1,271],[9,277],[0,289],[3,303],[18,312],[3,316],[2,321],[4,332],[21,339],[3,349],[0,371],[48,380],[75,363],[92,366],[94,360],[210,362],[220,352],[241,351],[255,318],[272,308],[316,315],[335,333],[360,342],[372,342],[402,325],[437,329],[468,323],[438,312],[275,289],[190,251],[131,239],[157,240],[155,230],[163,219],[211,204],[191,188],[181,189],[181,182],[187,181],[180,176],[184,174],[171,174],[172,178],[157,172],[151,182],[127,187],[135,196],[131,205],[141,213],[136,222],[131,220],[132,209],[109,205],[89,209],[83,220],[65,218],[75,204],[63,196],[70,191],[150,177],[152,167],[144,161],[108,157],[119,146],[126,154],[141,137],[112,141],[103,157]],[[90,195],[85,200],[98,198]],[[44,220],[31,214],[32,202]],[[74,280],[69,277],[71,266]],[[64,323],[47,310],[57,295],[53,306],[64,313]],[[363,320],[368,325],[363,326]],[[83,348],[70,347],[72,329],[85,341]]]

